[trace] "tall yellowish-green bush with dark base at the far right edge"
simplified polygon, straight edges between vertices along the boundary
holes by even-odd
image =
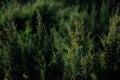
[[[105,45],[106,50],[106,75],[110,76],[107,80],[113,79],[120,79],[119,72],[120,72],[120,17],[115,14],[115,16],[111,19],[111,25],[109,29],[109,34]]]

